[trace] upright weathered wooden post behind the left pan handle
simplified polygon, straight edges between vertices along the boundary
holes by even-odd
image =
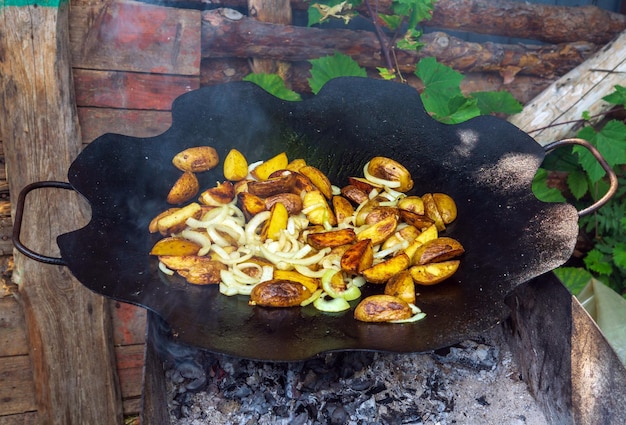
[[[81,148],[68,11],[66,0],[0,0],[0,134],[13,200],[26,184],[67,180]],[[22,242],[58,255],[56,237],[86,217],[77,195],[38,190],[26,202]],[[26,314],[38,423],[122,423],[107,301],[66,268],[18,253],[13,276]]]

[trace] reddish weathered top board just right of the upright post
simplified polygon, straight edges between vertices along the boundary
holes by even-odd
[[[200,12],[129,0],[72,2],[75,68],[198,75]]]

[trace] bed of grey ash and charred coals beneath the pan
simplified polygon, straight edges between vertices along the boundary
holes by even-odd
[[[197,351],[167,364],[175,425],[547,424],[499,328],[432,353],[271,363]]]

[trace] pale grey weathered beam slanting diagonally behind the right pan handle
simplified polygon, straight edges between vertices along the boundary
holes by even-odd
[[[509,121],[546,144],[575,135],[584,111],[607,112],[612,105],[602,98],[624,85],[626,32],[602,50],[552,83]]]

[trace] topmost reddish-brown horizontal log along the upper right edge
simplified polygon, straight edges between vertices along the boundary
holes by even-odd
[[[212,0],[211,4],[244,7],[246,1]],[[391,13],[391,1],[377,2],[380,13]],[[308,0],[291,0],[291,7],[296,10],[306,10],[310,4]],[[360,6],[359,10],[365,12],[365,6]],[[555,6],[511,0],[438,0],[432,19],[423,25],[554,44],[587,41],[602,45],[626,30],[626,16],[596,6]]]

